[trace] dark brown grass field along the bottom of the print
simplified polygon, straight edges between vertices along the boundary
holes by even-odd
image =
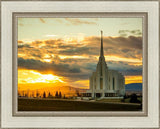
[[[140,104],[56,99],[18,99],[18,111],[141,111]]]

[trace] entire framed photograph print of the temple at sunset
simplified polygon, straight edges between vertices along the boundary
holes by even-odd
[[[18,111],[142,111],[142,18],[18,18]]]

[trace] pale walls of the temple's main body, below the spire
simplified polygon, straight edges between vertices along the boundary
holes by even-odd
[[[115,89],[113,89],[113,77],[115,78]],[[109,79],[110,78],[110,79]],[[110,81],[109,81],[110,80]],[[101,97],[105,97],[105,93],[115,93],[119,95],[125,94],[125,80],[122,74],[119,74],[117,71],[105,70],[103,73],[103,89],[100,89],[100,72],[94,72],[90,77],[90,90],[89,93],[92,93],[92,97],[95,97],[95,93],[101,93]],[[97,92],[98,91],[98,92]],[[107,92],[109,91],[109,92]]]

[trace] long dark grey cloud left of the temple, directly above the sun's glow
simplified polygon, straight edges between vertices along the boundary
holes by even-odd
[[[64,64],[55,62],[46,63],[35,59],[23,59],[18,58],[18,68],[37,70],[42,74],[52,73],[54,75],[70,77],[74,79],[86,78],[88,74],[82,73],[81,69],[77,65]]]

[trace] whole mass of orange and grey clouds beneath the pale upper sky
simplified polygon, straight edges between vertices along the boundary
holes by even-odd
[[[96,36],[18,41],[19,83],[88,88],[99,51],[100,38]],[[126,84],[142,82],[142,37],[104,37],[104,53],[109,69],[124,74]],[[23,75],[27,71],[22,69],[28,70],[28,75]]]

